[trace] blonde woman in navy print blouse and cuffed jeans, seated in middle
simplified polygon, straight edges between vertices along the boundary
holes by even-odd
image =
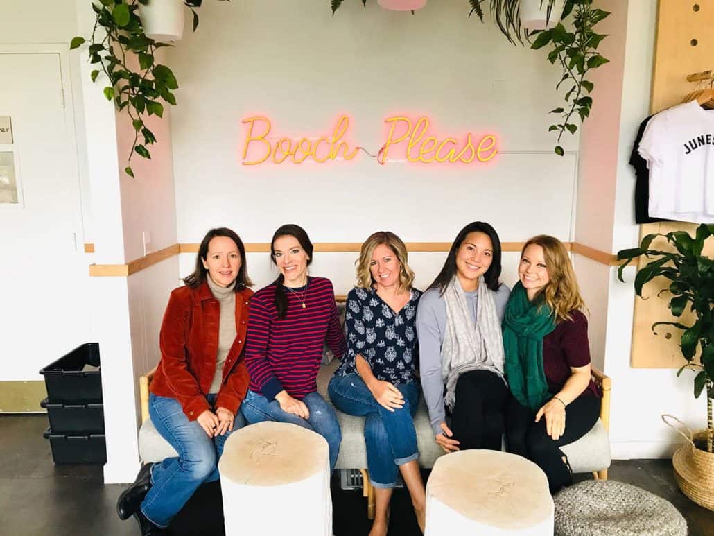
[[[411,284],[404,243],[376,232],[362,244],[357,286],[347,296],[347,351],[328,387],[335,407],[365,417],[367,466],[375,488],[370,535],[386,535],[397,470],[424,526],[426,493],[412,417],[419,399],[416,376],[416,307],[421,291]]]

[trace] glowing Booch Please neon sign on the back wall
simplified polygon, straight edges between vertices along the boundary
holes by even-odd
[[[329,160],[352,160],[357,157],[361,147],[346,141],[350,126],[350,118],[342,115],[333,129],[331,136],[321,137],[271,137],[272,124],[266,116],[251,116],[243,119],[247,125],[247,135],[243,142],[242,164],[256,166],[271,161],[274,164],[283,162],[312,161],[318,164]],[[423,164],[462,162],[471,164],[489,162],[498,154],[497,139],[493,134],[483,135],[478,142],[470,132],[461,141],[456,137],[438,139],[428,135],[431,121],[421,116],[412,121],[406,116],[390,116],[384,120],[389,126],[386,141],[378,152],[377,160],[385,164],[390,150],[395,148],[404,151],[408,162]]]

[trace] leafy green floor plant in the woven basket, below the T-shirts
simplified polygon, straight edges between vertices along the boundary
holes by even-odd
[[[642,297],[643,286],[655,277],[665,277],[670,285],[662,292],[669,292],[672,298],[669,309],[674,317],[681,317],[689,307],[695,314],[695,322],[688,326],[682,322],[662,321],[652,324],[652,330],[660,325],[670,325],[682,329],[682,355],[685,364],[677,372],[690,369],[694,377],[694,396],[705,392],[707,397],[707,452],[713,452],[714,425],[712,405],[714,399],[714,260],[702,254],[705,241],[714,234],[714,225],[701,224],[692,237],[688,232],[675,231],[667,234],[648,234],[640,242],[640,247],[623,249],[618,252],[618,260],[624,261],[618,269],[618,278],[623,279],[623,269],[633,259],[644,255],[650,262],[641,267],[635,276],[635,292]],[[665,238],[674,251],[650,249],[657,237]],[[661,294],[661,292],[660,292]],[[697,350],[701,350],[700,362],[695,361]]]

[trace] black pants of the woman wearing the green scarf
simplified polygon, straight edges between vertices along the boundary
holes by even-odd
[[[545,428],[545,417],[535,422],[535,413],[511,397],[506,405],[506,447],[535,462],[548,477],[550,492],[573,483],[567,457],[560,450],[587,434],[600,415],[600,399],[587,394],[565,408],[565,432],[559,440],[551,439]],[[565,461],[563,458],[565,457]]]

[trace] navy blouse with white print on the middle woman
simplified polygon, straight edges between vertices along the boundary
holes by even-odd
[[[411,289],[409,301],[396,313],[375,290],[352,289],[345,306],[347,350],[335,375],[356,374],[355,359],[361,355],[377,379],[392,384],[416,381],[416,306],[421,294]]]

